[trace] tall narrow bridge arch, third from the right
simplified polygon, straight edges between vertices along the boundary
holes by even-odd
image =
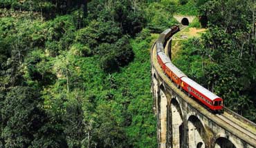
[[[170,127],[171,127],[171,136],[170,143],[173,148],[182,147],[183,137],[184,137],[184,122],[183,122],[183,112],[181,105],[178,102],[176,97],[172,98],[170,103]]]

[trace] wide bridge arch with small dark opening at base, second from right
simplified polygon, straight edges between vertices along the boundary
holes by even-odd
[[[205,148],[205,128],[197,116],[188,118],[188,147]]]

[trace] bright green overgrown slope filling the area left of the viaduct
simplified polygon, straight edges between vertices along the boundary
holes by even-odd
[[[0,147],[157,147],[150,32],[177,6],[0,1]]]

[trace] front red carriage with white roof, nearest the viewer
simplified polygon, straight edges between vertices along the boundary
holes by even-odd
[[[202,87],[198,83],[192,81],[188,77],[181,78],[181,87],[188,92],[188,94],[194,96],[197,100],[210,108],[212,111],[220,111],[223,109],[223,100],[216,94],[213,94],[205,87]]]

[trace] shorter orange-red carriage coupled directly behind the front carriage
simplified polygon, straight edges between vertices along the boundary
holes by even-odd
[[[177,84],[181,86],[181,78],[186,76],[181,70],[179,70],[172,62],[166,64],[165,73]]]

